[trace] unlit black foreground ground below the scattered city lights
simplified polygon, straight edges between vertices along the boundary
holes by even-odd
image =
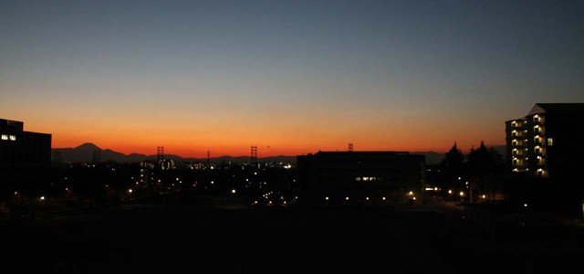
[[[579,272],[584,258],[579,227],[509,225],[492,233],[462,213],[428,208],[161,200],[5,222],[0,233],[3,268],[26,273]]]

